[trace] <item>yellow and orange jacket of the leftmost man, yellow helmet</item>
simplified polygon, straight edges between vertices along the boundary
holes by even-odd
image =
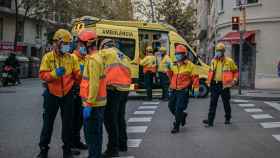
[[[56,68],[59,67],[65,68],[62,77],[56,75]],[[62,97],[72,89],[75,80],[79,78],[79,66],[70,54],[58,55],[51,51],[42,59],[39,77],[47,83],[51,94]]]

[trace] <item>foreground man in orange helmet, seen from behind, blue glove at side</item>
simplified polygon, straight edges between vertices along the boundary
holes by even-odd
[[[97,51],[97,36],[94,31],[84,30],[79,38],[85,42],[87,56],[80,96],[83,100],[85,139],[88,144],[89,158],[100,158],[102,152],[103,120],[106,105],[106,80],[104,61]]]

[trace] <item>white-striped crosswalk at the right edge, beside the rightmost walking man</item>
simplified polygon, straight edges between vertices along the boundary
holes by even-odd
[[[232,100],[234,103],[238,104],[240,108],[244,108],[244,111],[249,113],[250,116],[255,120],[261,120],[260,126],[264,129],[280,129],[280,122],[275,121],[276,118],[271,114],[265,113],[266,108],[258,107],[254,104],[254,101],[250,100]],[[264,105],[268,105],[273,109],[280,112],[280,104],[276,102],[263,102]],[[279,117],[278,117],[279,118]],[[273,120],[273,121],[270,121]],[[280,133],[272,134],[272,137],[275,138],[278,142],[280,142]]]

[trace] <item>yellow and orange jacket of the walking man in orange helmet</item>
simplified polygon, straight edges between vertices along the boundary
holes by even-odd
[[[171,89],[193,88],[195,91],[199,90],[199,76],[195,73],[194,64],[191,61],[185,60],[183,63],[172,64],[169,74]]]

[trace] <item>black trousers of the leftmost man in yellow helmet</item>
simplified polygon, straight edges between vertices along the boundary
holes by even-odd
[[[70,150],[71,131],[72,130],[72,115],[73,115],[73,93],[72,90],[64,97],[57,97],[45,91],[43,103],[43,128],[41,131],[40,148],[49,148],[53,125],[60,108],[62,119],[62,141],[64,143],[63,149]]]

